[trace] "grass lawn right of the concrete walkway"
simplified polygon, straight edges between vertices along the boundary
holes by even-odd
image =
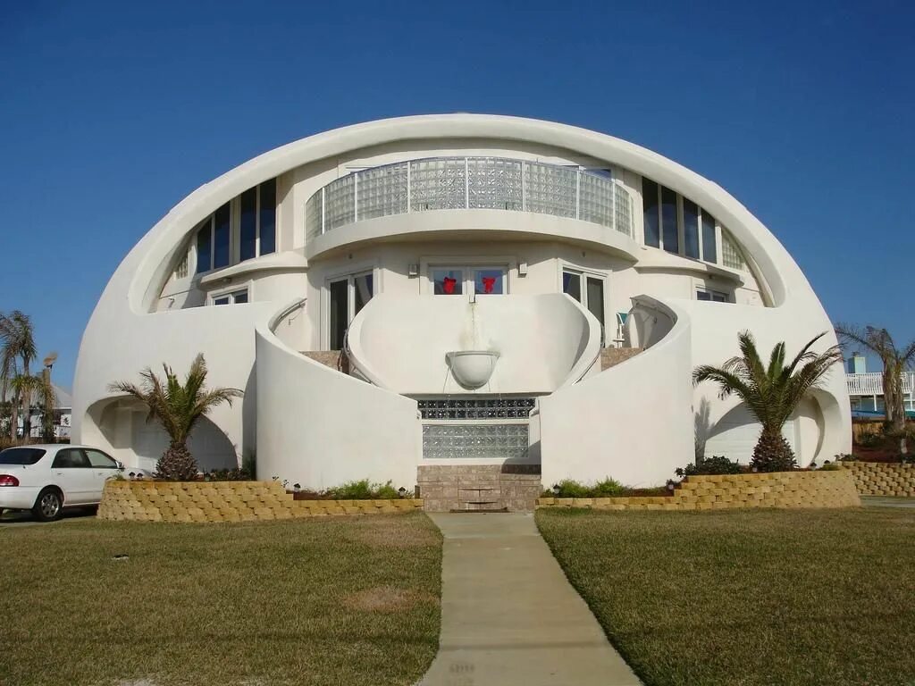
[[[915,511],[541,509],[649,686],[915,684]]]

